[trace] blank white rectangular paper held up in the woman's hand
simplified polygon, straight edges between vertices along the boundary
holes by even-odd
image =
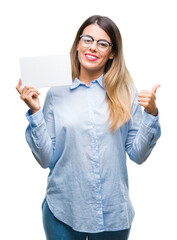
[[[52,87],[72,84],[70,55],[20,59],[23,86]]]

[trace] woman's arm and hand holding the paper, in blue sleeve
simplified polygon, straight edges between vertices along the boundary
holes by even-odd
[[[43,168],[52,167],[55,153],[55,131],[52,97],[48,92],[43,108],[40,109],[39,92],[31,86],[22,89],[22,81],[16,86],[20,98],[30,110],[27,112],[29,126],[26,130],[26,140],[39,164]]]

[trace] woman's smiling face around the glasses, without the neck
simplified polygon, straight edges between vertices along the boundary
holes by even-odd
[[[89,35],[95,40],[104,39],[111,43],[110,37],[97,24],[87,26],[82,35]],[[91,46],[83,47],[81,40],[77,46],[78,59],[80,62],[80,71],[97,72],[100,75],[104,73],[104,68],[109,59],[113,58],[112,47],[109,47],[105,52],[97,49],[97,42],[94,41]]]

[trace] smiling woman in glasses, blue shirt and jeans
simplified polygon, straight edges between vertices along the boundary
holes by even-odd
[[[115,23],[92,16],[71,49],[72,86],[53,87],[43,111],[33,87],[17,90],[29,106],[27,142],[49,168],[42,205],[48,240],[126,240],[134,218],[126,152],[143,163],[158,138],[155,93],[137,94]],[[142,115],[141,107],[145,111]]]

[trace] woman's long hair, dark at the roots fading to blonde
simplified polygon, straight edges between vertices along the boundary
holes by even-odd
[[[103,85],[108,102],[110,130],[114,132],[114,130],[121,127],[131,118],[131,99],[134,87],[124,61],[120,31],[108,17],[91,16],[79,28],[70,52],[72,77],[75,79],[79,77],[80,73],[77,53],[79,36],[88,25],[95,23],[108,34],[113,44],[112,52],[114,53],[114,58],[109,59],[105,65]]]

